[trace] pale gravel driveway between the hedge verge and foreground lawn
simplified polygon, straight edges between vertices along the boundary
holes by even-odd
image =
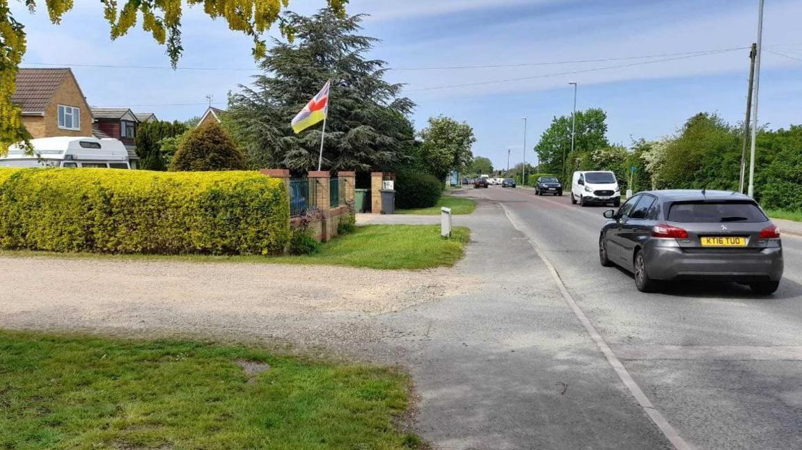
[[[322,347],[391,334],[377,315],[473,283],[452,269],[0,257],[0,327],[220,335]]]

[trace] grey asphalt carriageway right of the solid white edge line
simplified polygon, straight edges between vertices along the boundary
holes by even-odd
[[[626,271],[598,263],[602,212],[610,208],[573,206],[568,195],[543,197],[525,189],[491,187],[465,195],[504,208],[691,448],[802,448],[802,238],[783,236],[785,276],[775,295],[701,282],[643,294]],[[518,247],[520,252],[496,259],[533,257],[529,245]],[[553,286],[548,274],[538,276],[542,286]],[[634,420],[631,426],[644,425]],[[606,445],[587,446],[598,447]],[[650,444],[622,441],[620,448]]]

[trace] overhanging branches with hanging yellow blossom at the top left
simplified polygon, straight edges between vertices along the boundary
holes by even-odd
[[[328,0],[334,14],[344,14],[348,0]],[[141,18],[142,29],[156,42],[167,46],[172,66],[176,66],[184,47],[181,46],[181,14],[183,0],[100,0],[103,17],[111,25],[111,38],[128,33]],[[289,38],[294,35],[292,24],[282,20],[282,7],[288,0],[187,0],[188,6],[202,5],[209,17],[223,18],[229,29],[248,34],[253,38],[253,55],[261,58],[266,45],[262,35],[274,22]],[[25,0],[30,12],[36,10],[36,0]],[[47,14],[51,22],[61,22],[63,14],[71,10],[73,0],[47,0]],[[11,102],[19,63],[25,55],[25,26],[11,14],[9,0],[0,0],[0,155],[12,143],[30,139],[22,126],[22,111]]]

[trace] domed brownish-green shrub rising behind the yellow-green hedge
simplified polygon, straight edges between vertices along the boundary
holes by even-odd
[[[217,123],[189,131],[170,162],[171,171],[237,171],[245,169],[245,155]]]

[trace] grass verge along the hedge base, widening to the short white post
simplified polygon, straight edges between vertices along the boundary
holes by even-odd
[[[366,225],[350,235],[322,244],[315,255],[214,256],[214,255],[107,255],[47,251],[0,251],[0,256],[164,260],[200,263],[286,263],[368,267],[374,269],[426,269],[450,267],[462,259],[470,241],[467,227],[454,227],[450,239],[441,238],[436,225]]]

